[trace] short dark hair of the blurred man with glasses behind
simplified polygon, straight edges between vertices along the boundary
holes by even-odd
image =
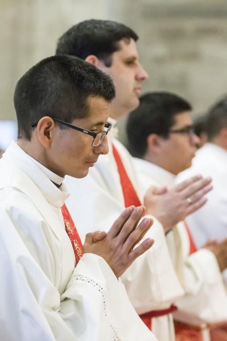
[[[186,100],[174,94],[157,92],[142,95],[140,106],[129,114],[126,125],[131,154],[142,158],[150,134],[168,138],[170,128],[175,124],[175,115],[191,110]]]

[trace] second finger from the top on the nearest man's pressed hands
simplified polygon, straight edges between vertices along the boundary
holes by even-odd
[[[137,207],[134,209],[128,220],[122,226],[121,231],[119,232],[118,236],[116,237],[118,243],[122,244],[128,238],[128,236],[135,230],[137,227],[137,222],[141,219],[143,214],[144,207]]]

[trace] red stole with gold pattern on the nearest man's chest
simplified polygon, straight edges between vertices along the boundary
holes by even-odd
[[[72,247],[74,250],[74,254],[75,254],[75,258],[76,258],[76,264],[78,264],[79,260],[83,256],[82,242],[81,242],[80,236],[76,230],[76,227],[73,223],[72,217],[70,216],[70,212],[69,212],[66,204],[64,204],[62,206],[61,210],[62,210],[62,215],[63,215],[65,227],[66,227],[66,232],[67,232],[68,236],[70,237],[70,241],[72,243]]]

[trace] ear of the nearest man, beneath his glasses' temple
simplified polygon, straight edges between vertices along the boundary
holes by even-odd
[[[44,116],[38,121],[36,133],[43,147],[51,148],[55,127],[56,124],[50,116]]]

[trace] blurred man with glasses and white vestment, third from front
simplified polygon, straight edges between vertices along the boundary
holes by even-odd
[[[141,96],[139,108],[129,115],[127,135],[140,177],[141,194],[148,184],[173,188],[175,176],[190,167],[199,143],[193,131],[191,110],[185,99],[159,92]],[[190,195],[186,205],[190,207],[194,199],[195,194]],[[175,302],[178,307],[175,317],[181,322],[201,325],[201,329],[204,323],[227,320],[227,294],[221,276],[221,271],[227,267],[227,240],[196,250],[183,221],[166,235],[166,239],[185,290],[185,296]],[[186,326],[178,323],[177,337],[182,328],[186,335]],[[188,333],[192,337],[192,330]],[[200,340],[197,337],[195,340]]]

